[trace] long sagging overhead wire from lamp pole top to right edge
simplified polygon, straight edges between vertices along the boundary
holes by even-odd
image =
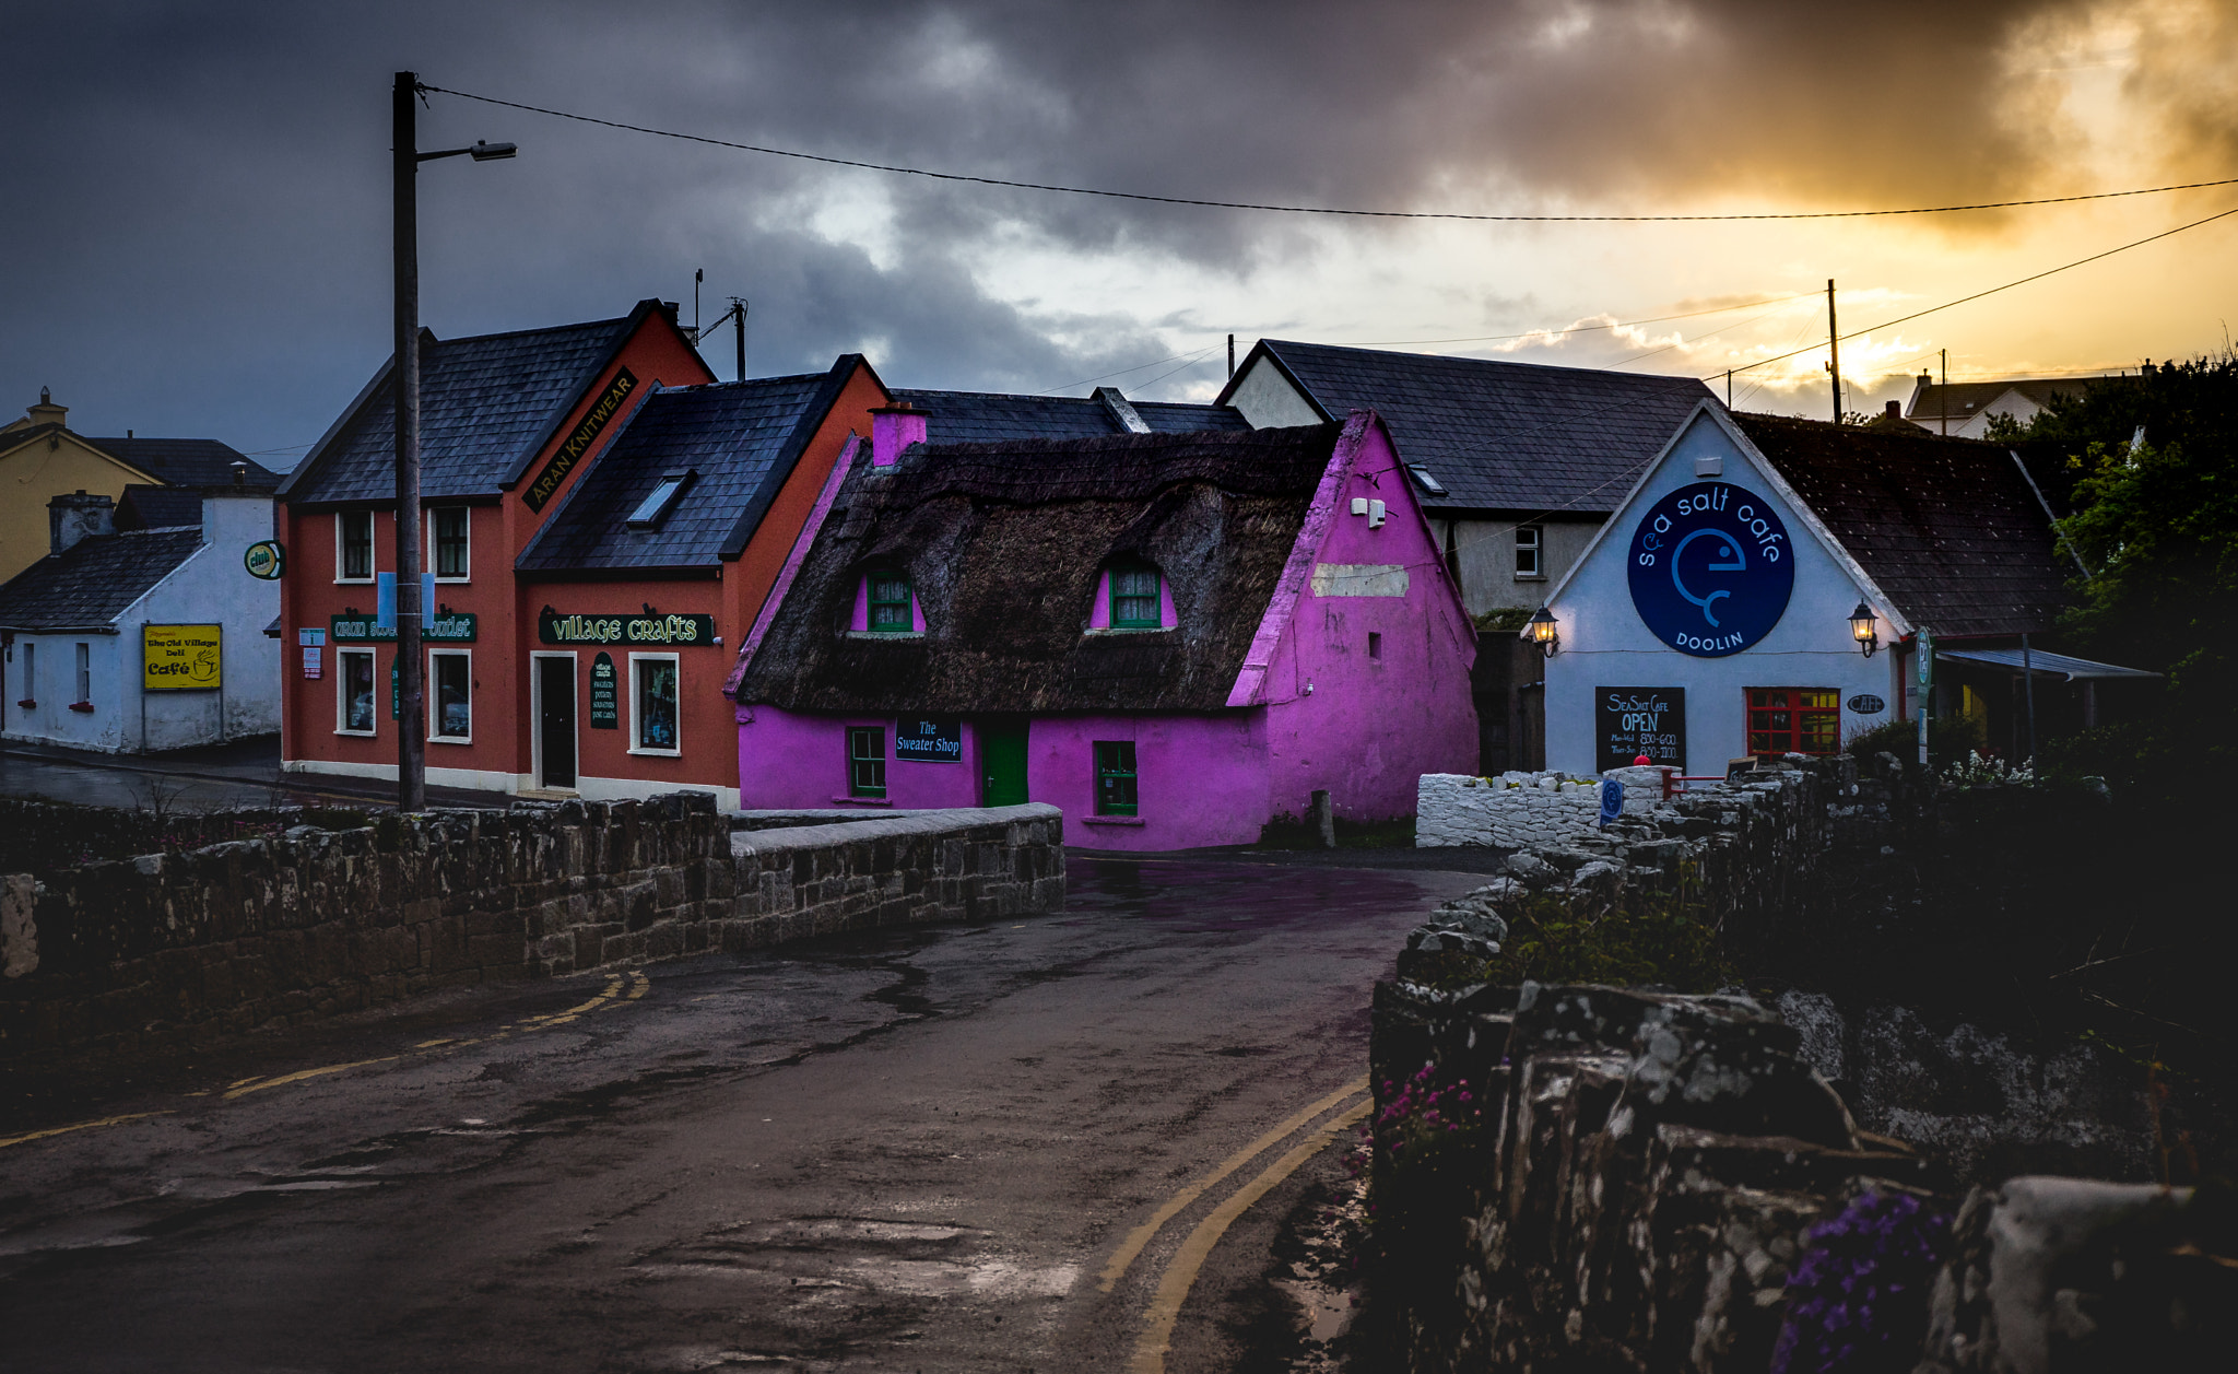
[[[436,96],[457,96],[461,101],[481,101],[483,105],[504,105],[506,110],[526,110],[528,114],[548,114],[551,119],[573,119],[575,123],[595,123],[609,130],[624,130],[631,134],[653,134],[658,139],[680,139],[685,143],[707,143],[709,148],[734,148],[739,152],[759,152],[763,157],[790,157],[794,161],[815,161],[833,168],[859,168],[864,172],[893,172],[900,177],[929,177],[933,181],[967,181],[971,186],[1007,186],[1012,190],[1050,190],[1056,195],[1094,195],[1119,201],[1150,201],[1157,206],[1202,206],[1209,210],[1269,210],[1276,215],[1343,215],[1354,219],[1461,219],[1473,224],[1703,224],[1703,222],[1741,222],[1741,219],[1873,219],[1887,215],[1958,215],[1969,210],[2019,210],[2023,206],[2066,206],[2075,201],[2106,201],[2131,195],[2162,195],[2171,190],[2200,190],[2207,186],[2238,186],[2238,177],[2225,177],[2220,181],[2184,181],[2178,186],[2142,186],[2135,190],[2097,190],[2086,195],[2052,195],[2025,201],[1978,201],[1969,206],[1913,206],[1902,210],[1797,210],[1797,213],[1757,213],[1757,215],[1457,215],[1446,210],[1347,210],[1336,206],[1273,206],[1258,201],[1213,201],[1186,195],[1148,195],[1139,190],[1103,190],[1097,186],[1054,186],[1047,181],[1012,181],[1007,177],[969,177],[965,172],[933,172],[927,168],[904,168],[897,163],[875,163],[857,161],[853,157],[828,157],[821,152],[797,152],[792,148],[768,148],[761,143],[734,143],[730,139],[714,139],[707,134],[680,134],[676,130],[656,130],[642,123],[624,123],[620,119],[598,119],[593,114],[573,114],[568,110],[548,110],[544,105],[524,105],[519,101],[499,101],[497,96],[477,96],[472,92],[448,90],[441,85],[421,85],[421,92]]]

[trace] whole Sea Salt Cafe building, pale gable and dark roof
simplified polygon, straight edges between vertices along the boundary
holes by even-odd
[[[1645,752],[1701,777],[1840,752],[1913,716],[1920,629],[1936,714],[1976,716],[1985,747],[2021,754],[2005,649],[2054,629],[2072,573],[2003,448],[1703,403],[1549,597],[1546,765]],[[2032,662],[2050,727],[2072,674]]]

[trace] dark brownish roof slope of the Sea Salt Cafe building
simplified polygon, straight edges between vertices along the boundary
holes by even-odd
[[[2072,564],[2001,443],[1734,414],[1842,548],[1938,636],[2054,627]]]

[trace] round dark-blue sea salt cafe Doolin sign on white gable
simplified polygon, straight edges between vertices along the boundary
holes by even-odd
[[[1795,546],[1757,492],[1696,481],[1640,517],[1629,573],[1632,606],[1658,640],[1725,658],[1779,624],[1795,591]]]

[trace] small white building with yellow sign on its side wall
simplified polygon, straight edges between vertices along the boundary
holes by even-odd
[[[204,492],[199,524],[125,533],[78,492],[49,528],[0,586],[4,738],[137,754],[280,730],[280,584],[244,564],[273,537],[271,492]]]

